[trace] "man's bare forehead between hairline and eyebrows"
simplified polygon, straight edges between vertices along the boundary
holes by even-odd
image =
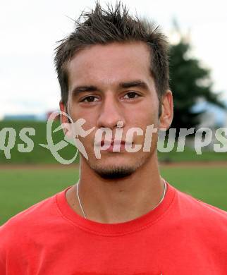
[[[69,86],[146,80],[151,78],[149,47],[144,42],[92,45],[75,54],[66,69]]]

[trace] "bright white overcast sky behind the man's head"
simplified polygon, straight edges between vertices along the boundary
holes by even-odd
[[[123,3],[132,13],[155,20],[167,36],[176,18],[183,32],[190,31],[194,56],[211,68],[214,91],[223,91],[223,99],[227,99],[226,1]],[[58,109],[60,89],[53,62],[56,41],[73,31],[68,17],[78,18],[84,8],[94,7],[94,1],[0,0],[0,4],[0,118]]]

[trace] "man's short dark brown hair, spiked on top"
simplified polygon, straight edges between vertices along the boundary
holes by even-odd
[[[128,14],[128,9],[118,2],[116,6],[107,5],[106,10],[97,2],[94,10],[82,12],[75,21],[75,30],[56,47],[55,66],[61,87],[61,100],[68,102],[67,63],[75,54],[94,44],[112,42],[145,42],[150,49],[150,71],[159,97],[159,116],[161,97],[168,89],[168,42],[159,31],[159,26],[140,20]]]

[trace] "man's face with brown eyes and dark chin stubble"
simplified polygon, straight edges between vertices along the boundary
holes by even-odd
[[[149,71],[150,54],[145,43],[112,43],[83,49],[68,63],[68,112],[77,121],[84,118],[84,130],[95,127],[86,138],[80,138],[88,155],[86,164],[103,177],[126,176],[154,157],[157,134],[153,134],[150,152],[101,151],[94,155],[94,136],[99,128],[113,131],[123,121],[123,137],[130,128],[141,128],[144,135],[133,135],[134,145],[143,145],[149,125],[159,127],[159,100]],[[104,136],[102,137],[104,140]]]

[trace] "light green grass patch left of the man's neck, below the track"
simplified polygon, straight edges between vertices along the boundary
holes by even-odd
[[[0,224],[78,180],[78,169],[1,169]]]

